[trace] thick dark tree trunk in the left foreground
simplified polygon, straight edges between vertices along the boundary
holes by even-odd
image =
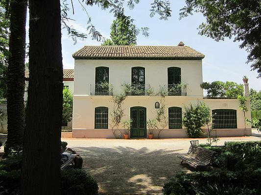
[[[29,0],[29,87],[22,195],[60,194],[63,65],[60,0]]]

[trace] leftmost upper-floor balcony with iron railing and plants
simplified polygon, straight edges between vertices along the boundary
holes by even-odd
[[[113,86],[109,83],[91,84],[91,96],[112,96]]]

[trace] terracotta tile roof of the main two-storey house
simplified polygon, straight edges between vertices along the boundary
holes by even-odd
[[[84,46],[74,59],[203,59],[204,54],[188,46]]]

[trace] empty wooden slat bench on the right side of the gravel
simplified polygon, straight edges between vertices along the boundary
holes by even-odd
[[[210,165],[211,160],[215,152],[202,148],[196,145],[190,145],[190,149],[187,154],[179,154],[177,157],[180,158],[181,164],[186,161],[191,167],[207,167]]]

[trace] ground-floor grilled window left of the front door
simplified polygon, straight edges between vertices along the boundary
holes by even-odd
[[[95,108],[95,129],[108,129],[108,108]]]

